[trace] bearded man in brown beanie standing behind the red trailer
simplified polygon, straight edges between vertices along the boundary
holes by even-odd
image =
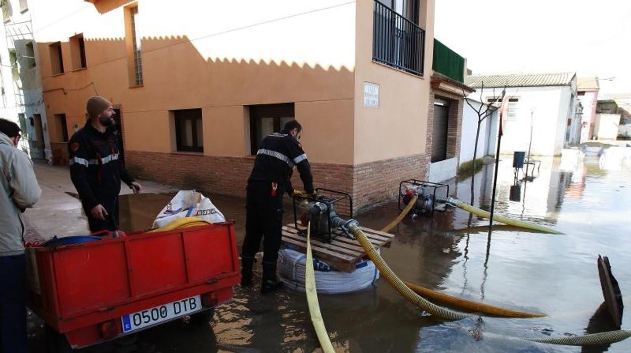
[[[94,96],[88,99],[86,110],[88,121],[68,141],[70,178],[88,216],[90,231],[116,230],[121,180],[134,193],[143,188],[119,160],[112,104],[103,97]]]

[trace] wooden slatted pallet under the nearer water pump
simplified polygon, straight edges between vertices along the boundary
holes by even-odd
[[[379,249],[389,248],[394,234],[380,232],[379,230],[360,227],[366,234],[372,245]],[[306,231],[306,227],[298,225],[298,229]],[[321,239],[311,236],[311,249],[314,258],[322,260],[336,270],[343,272],[353,272],[355,264],[362,258],[367,258],[362,246],[355,239],[350,239],[342,230],[335,230],[331,242],[324,242]],[[307,236],[296,230],[293,223],[283,227],[283,242],[297,251],[305,253],[307,251]]]

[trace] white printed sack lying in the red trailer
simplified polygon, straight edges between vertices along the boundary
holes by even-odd
[[[226,217],[209,198],[195,190],[180,190],[153,221],[160,228],[177,218],[198,217],[211,223],[225,222]]]

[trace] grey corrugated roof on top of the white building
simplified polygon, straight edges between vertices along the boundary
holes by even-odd
[[[530,73],[511,75],[475,75],[464,78],[464,84],[480,88],[484,87],[541,87],[569,86],[575,73]]]

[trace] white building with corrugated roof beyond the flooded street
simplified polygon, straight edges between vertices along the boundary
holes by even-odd
[[[486,102],[493,102],[506,88],[509,102],[500,153],[528,152],[531,127],[533,155],[560,155],[567,145],[579,143],[575,73],[475,75],[465,78],[465,84],[478,90],[469,95],[471,99],[480,97],[484,87]]]

